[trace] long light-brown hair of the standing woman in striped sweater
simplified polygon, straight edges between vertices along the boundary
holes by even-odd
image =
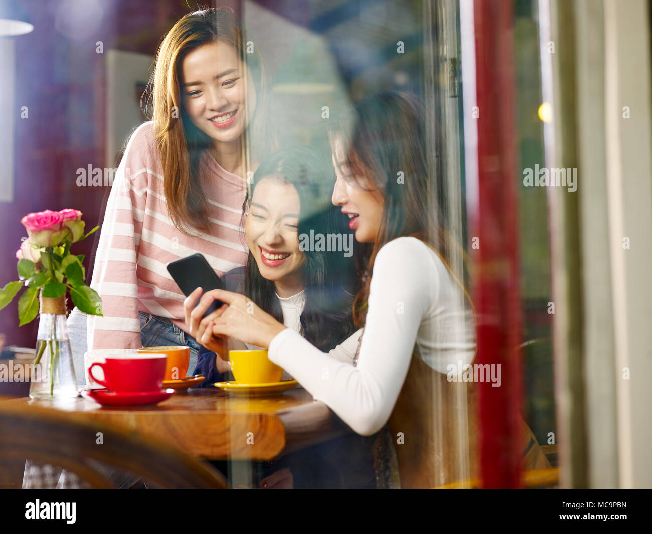
[[[188,226],[203,231],[209,228],[199,168],[201,155],[211,147],[213,140],[192,124],[185,111],[180,89],[181,65],[188,52],[217,40],[234,48],[245,70],[249,68],[256,91],[256,110],[241,140],[245,168],[250,168],[252,150],[257,152],[254,157],[262,157],[274,149],[274,137],[265,123],[265,70],[256,47],[252,47],[253,52],[249,50],[252,53],[247,53],[237,17],[226,9],[207,8],[180,18],[156,53],[156,67],[149,85],[168,212],[177,229],[186,234]]]

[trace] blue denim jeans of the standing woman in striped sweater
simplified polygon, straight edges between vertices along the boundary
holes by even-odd
[[[163,347],[170,345],[190,347],[188,373],[192,373],[192,370],[197,366],[197,355],[200,349],[200,345],[195,339],[173,324],[170,319],[145,312],[138,312],[138,315],[140,316],[140,340],[143,347]],[[70,312],[67,321],[70,348],[72,349],[72,359],[78,385],[86,383],[83,359],[84,353],[88,350],[86,344],[86,319],[86,314],[74,308]]]

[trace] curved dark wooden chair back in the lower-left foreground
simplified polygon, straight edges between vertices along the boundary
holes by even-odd
[[[209,464],[166,443],[74,414],[0,402],[0,487],[22,487],[25,460],[66,469],[92,488],[112,487],[98,462],[162,488],[227,487]]]

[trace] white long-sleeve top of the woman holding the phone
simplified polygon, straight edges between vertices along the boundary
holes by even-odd
[[[323,353],[288,328],[274,337],[268,355],[363,436],[389,421],[415,343],[422,359],[443,373],[448,364],[463,366],[475,356],[475,321],[464,289],[415,237],[394,239],[376,256],[354,367],[360,335]]]

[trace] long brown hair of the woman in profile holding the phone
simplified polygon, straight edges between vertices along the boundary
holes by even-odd
[[[398,237],[428,241],[450,263],[455,250],[441,220],[428,205],[429,181],[440,179],[426,163],[426,132],[419,104],[404,93],[386,91],[353,104],[329,127],[331,145],[341,141],[354,177],[364,177],[383,196],[383,215],[363,268],[363,286],[353,303],[353,319],[363,326],[374,260],[380,248]],[[402,173],[402,177],[400,176]]]

